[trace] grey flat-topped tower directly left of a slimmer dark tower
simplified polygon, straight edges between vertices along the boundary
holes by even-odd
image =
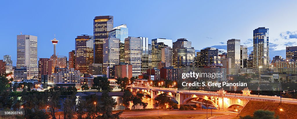
[[[231,58],[231,68],[240,68],[241,64],[239,39],[230,39],[227,41],[227,58]]]

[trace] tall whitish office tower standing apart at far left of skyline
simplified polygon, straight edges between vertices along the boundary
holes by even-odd
[[[27,67],[27,79],[38,76],[37,36],[17,35],[17,68]]]

